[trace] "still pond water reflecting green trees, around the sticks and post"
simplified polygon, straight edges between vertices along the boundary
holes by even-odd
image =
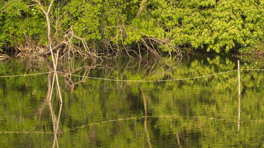
[[[264,69],[261,59],[242,68]],[[199,57],[178,63],[105,60],[58,63],[58,71],[119,80],[167,80],[237,69],[236,58]],[[0,75],[52,71],[50,58],[1,61]],[[264,71],[197,79],[117,82],[58,74],[0,77],[1,148],[261,148],[264,147]],[[239,111],[240,109],[240,111]]]

